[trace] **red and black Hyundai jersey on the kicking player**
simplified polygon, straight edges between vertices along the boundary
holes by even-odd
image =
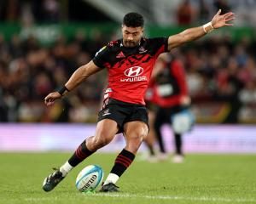
[[[92,59],[98,67],[108,69],[104,98],[145,105],[144,94],[155,60],[165,52],[168,52],[166,37],[142,38],[134,48],[123,46],[122,40],[109,42]]]

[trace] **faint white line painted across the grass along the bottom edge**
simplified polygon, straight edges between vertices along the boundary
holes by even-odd
[[[255,202],[256,199],[249,198],[223,198],[223,197],[186,197],[186,196],[175,196],[175,195],[134,195],[134,194],[120,194],[120,193],[96,193],[85,196],[90,197],[110,197],[110,198],[140,198],[147,200],[166,200],[166,201],[216,201],[216,202],[230,202],[230,203],[247,203],[247,202]],[[26,201],[58,201],[60,197],[28,197]],[[73,197],[65,198],[67,200],[75,200]]]

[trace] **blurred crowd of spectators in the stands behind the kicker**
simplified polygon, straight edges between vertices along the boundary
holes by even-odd
[[[6,42],[0,36],[0,121],[94,122],[100,108],[106,71],[84,82],[74,93],[51,108],[46,94],[61,88],[80,65],[87,63],[106,42],[88,40],[78,33],[71,42],[64,37],[44,48],[34,37]],[[205,37],[177,50],[186,68],[193,104],[218,101],[230,104],[230,121],[252,114],[256,101],[255,42],[244,38]]]

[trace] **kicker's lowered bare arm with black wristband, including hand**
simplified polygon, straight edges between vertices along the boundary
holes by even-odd
[[[46,105],[53,105],[55,99],[60,99],[63,95],[67,94],[69,91],[72,91],[74,88],[78,87],[81,82],[84,82],[86,78],[90,77],[90,75],[95,74],[98,71],[101,71],[102,68],[96,66],[94,62],[91,60],[86,65],[82,65],[73,72],[73,75],[69,78],[67,83],[65,84],[64,89],[61,92],[52,92],[48,94],[44,98],[44,103]]]

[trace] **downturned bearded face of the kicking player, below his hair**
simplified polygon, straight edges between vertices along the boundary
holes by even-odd
[[[132,48],[139,44],[143,37],[143,27],[122,26],[123,44],[125,47]]]

